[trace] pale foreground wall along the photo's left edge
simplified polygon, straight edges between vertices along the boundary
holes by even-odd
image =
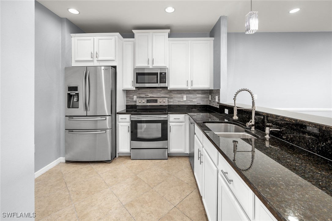
[[[31,215],[35,209],[34,30],[35,1],[1,1],[0,210]],[[18,218],[1,214],[1,220]]]

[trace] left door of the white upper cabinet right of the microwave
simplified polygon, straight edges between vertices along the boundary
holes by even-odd
[[[189,42],[170,41],[169,43],[169,87],[189,88]]]

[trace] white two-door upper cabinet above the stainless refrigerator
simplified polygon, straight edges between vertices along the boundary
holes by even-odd
[[[71,34],[72,66],[117,65],[119,33]],[[121,48],[120,48],[121,49]]]

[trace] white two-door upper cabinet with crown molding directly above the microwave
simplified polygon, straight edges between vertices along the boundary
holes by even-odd
[[[167,67],[170,30],[132,30],[135,33],[135,67]]]

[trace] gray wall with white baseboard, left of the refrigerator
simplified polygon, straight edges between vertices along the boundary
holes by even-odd
[[[64,67],[71,66],[69,33],[84,33],[36,2],[35,172],[64,157]]]

